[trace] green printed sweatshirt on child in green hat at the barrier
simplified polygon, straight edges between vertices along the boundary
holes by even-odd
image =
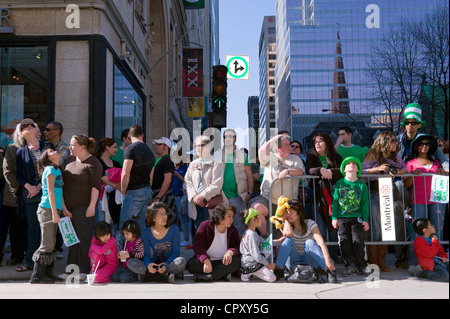
[[[341,178],[336,182],[331,206],[332,219],[361,217],[369,222],[369,192],[360,179],[354,182]]]

